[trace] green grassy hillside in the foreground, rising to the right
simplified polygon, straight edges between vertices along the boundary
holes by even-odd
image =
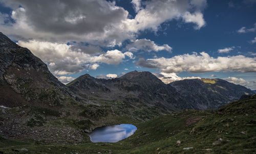
[[[42,145],[34,141],[22,142],[1,138],[0,151],[2,153],[255,153],[255,111],[256,95],[252,95],[231,102],[218,111],[184,110],[162,115],[147,122],[131,121],[138,130],[131,137],[117,143]],[[125,122],[129,123],[129,119],[125,119]]]

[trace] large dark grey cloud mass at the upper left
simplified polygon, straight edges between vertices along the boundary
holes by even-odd
[[[125,19],[123,8],[114,9],[107,1],[22,1],[11,0],[25,8],[28,24],[34,29],[53,34],[85,34],[103,32],[105,28]]]

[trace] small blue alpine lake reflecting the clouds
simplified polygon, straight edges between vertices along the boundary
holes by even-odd
[[[98,127],[90,134],[92,142],[118,142],[134,134],[137,127],[132,124]]]

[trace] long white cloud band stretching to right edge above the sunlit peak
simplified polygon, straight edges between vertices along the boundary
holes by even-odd
[[[172,58],[156,58],[144,60],[140,58],[137,65],[147,68],[160,68],[162,72],[256,72],[256,57],[249,58],[242,55],[228,57],[210,57],[207,53],[184,54]]]

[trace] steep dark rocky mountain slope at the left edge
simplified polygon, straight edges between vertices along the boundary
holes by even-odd
[[[44,102],[57,106],[66,97],[65,85],[27,48],[0,33],[0,50],[1,105],[17,107]]]

